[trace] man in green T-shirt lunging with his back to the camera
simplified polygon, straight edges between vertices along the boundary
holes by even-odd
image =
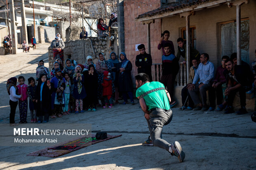
[[[183,162],[185,153],[182,151],[180,143],[175,141],[169,144],[162,139],[162,129],[168,125],[173,118],[169,102],[170,94],[166,91],[164,84],[160,82],[149,82],[149,77],[145,73],[135,76],[136,97],[140,100],[140,106],[148,121],[152,144],[156,147],[166,149],[171,155],[178,157]]]

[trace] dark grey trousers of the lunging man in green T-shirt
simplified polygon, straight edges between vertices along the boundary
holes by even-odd
[[[160,147],[169,151],[171,144],[162,139],[162,130],[164,125],[168,125],[173,119],[173,112],[170,110],[156,108],[149,113],[150,119],[147,120],[149,125],[150,136],[155,147]]]

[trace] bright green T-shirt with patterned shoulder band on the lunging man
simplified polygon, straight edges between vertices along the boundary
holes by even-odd
[[[159,87],[164,87],[164,84],[160,82],[150,82],[150,83],[143,84],[137,89],[136,97],[139,97],[140,95],[144,94],[149,90],[159,88]],[[161,108],[166,110],[170,109],[169,100],[165,90],[154,91],[152,93],[149,93],[148,95],[145,95],[143,98],[149,110],[153,108]]]

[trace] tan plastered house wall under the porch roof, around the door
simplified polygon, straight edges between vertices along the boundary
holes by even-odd
[[[249,18],[249,60],[250,63],[255,58],[256,49],[256,1],[250,1],[249,4],[241,6],[241,18]],[[210,61],[218,67],[221,63],[220,47],[220,23],[225,21],[234,21],[236,19],[236,7],[228,8],[227,5],[221,5],[210,9],[197,11],[195,15],[190,16],[190,26],[196,26],[197,50],[202,53],[208,53]],[[160,20],[160,19],[158,19]],[[162,19],[162,30],[169,30],[171,35],[169,40],[175,44],[175,53],[177,53],[177,39],[181,36],[180,28],[186,26],[185,17],[179,15]]]

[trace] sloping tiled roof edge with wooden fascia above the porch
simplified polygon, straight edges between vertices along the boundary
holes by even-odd
[[[192,13],[194,14],[195,11],[199,11],[201,9],[206,9],[206,8],[212,8],[212,7],[217,7],[219,5],[224,5],[227,4],[228,7],[232,7],[232,5],[237,5],[237,4],[242,4],[242,3],[248,3],[249,0],[215,0],[212,2],[206,2],[202,4],[196,4],[192,5],[191,7],[180,7],[179,9],[176,10],[159,10],[159,12],[156,12],[157,9],[146,12],[144,14],[141,14],[136,17],[135,21],[142,21],[143,23],[147,23],[149,21],[153,21],[154,19],[161,19],[161,18],[166,18],[170,16],[175,16],[177,14],[180,14],[183,16],[183,13]],[[150,15],[151,13],[151,15]],[[144,16],[143,16],[144,15]]]

